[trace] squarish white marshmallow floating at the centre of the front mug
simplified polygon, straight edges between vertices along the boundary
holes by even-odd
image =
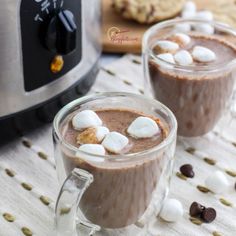
[[[106,135],[102,145],[112,153],[120,153],[129,143],[129,139],[118,132],[110,132]]]

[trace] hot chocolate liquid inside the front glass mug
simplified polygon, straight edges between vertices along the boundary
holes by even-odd
[[[129,110],[99,110],[96,112],[104,126],[110,131],[118,131],[129,138],[129,148],[126,153],[137,153],[148,150],[162,142],[167,130],[160,120],[155,119],[161,133],[152,138],[134,139],[128,136],[126,130],[133,120],[143,114]],[[76,137],[79,131],[73,129],[71,118],[62,127],[64,139],[78,147]],[[132,162],[112,160],[112,154],[103,162],[91,162],[71,156],[64,152],[64,165],[67,174],[74,168],[87,170],[94,176],[94,182],[89,186],[81,199],[80,209],[92,223],[104,228],[122,228],[135,223],[150,204],[152,194],[158,184],[165,162],[165,153],[150,152],[137,156]],[[145,157],[145,158],[144,158]]]

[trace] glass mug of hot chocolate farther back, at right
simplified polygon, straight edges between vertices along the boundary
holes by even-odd
[[[235,104],[231,97],[235,86],[236,57],[230,61],[221,59],[219,64],[181,66],[166,62],[153,52],[158,39],[173,33],[212,37],[212,34],[196,31],[194,25],[197,24],[213,27],[213,36],[227,40],[236,55],[236,31],[216,22],[170,20],[154,25],[143,38],[145,79],[149,85],[146,92],[152,90],[155,98],[171,109],[178,121],[178,134],[185,137],[206,134]]]

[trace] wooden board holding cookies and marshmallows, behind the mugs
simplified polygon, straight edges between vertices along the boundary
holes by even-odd
[[[236,27],[234,0],[103,0],[103,51],[140,53],[153,24],[182,17],[220,21]]]

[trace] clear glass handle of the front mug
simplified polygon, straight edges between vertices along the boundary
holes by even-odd
[[[99,226],[87,222],[81,214],[80,217],[77,214],[79,202],[92,182],[93,175],[75,168],[63,183],[55,209],[57,236],[80,236],[82,233],[77,232],[77,225],[83,232],[86,231],[84,235],[93,235],[100,230]]]

